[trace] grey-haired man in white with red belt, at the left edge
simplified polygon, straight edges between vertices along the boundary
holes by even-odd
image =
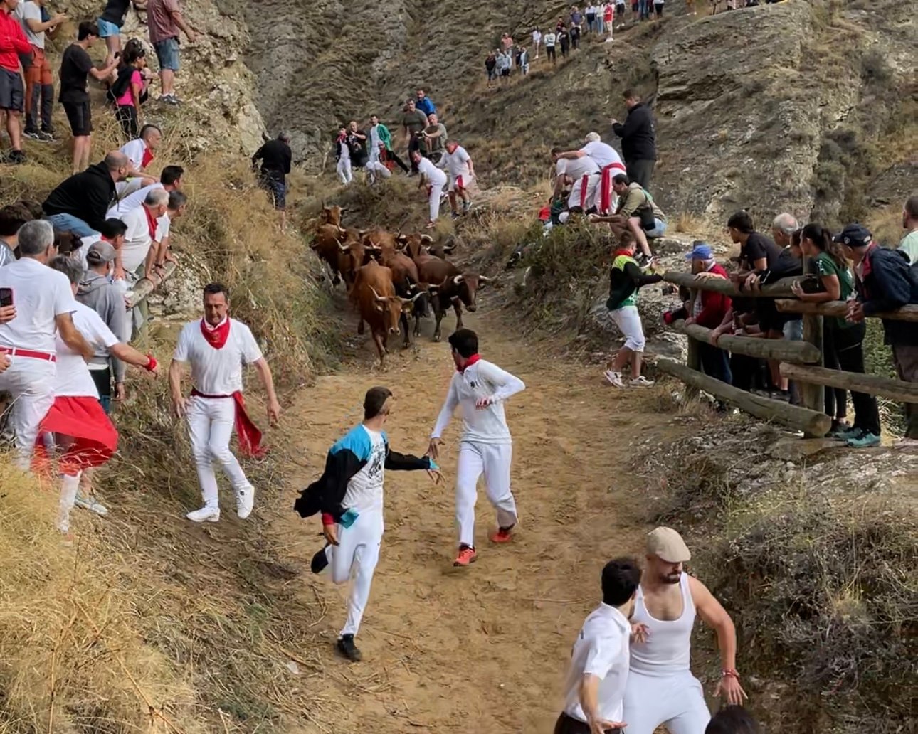
[[[85,359],[93,356],[93,348],[73,326],[76,303],[70,281],[48,267],[55,254],[50,222],[26,222],[18,239],[20,259],[0,268],[0,306],[14,309],[12,318],[0,323],[0,360],[8,365],[0,373],[0,392],[13,399],[17,464],[28,471],[39,423],[54,402],[55,333]]]

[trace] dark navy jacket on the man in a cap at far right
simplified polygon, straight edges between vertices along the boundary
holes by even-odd
[[[909,265],[904,252],[873,245],[862,266],[863,279],[855,269],[855,287],[857,300],[864,305],[864,316],[918,304],[918,272]],[[914,324],[891,318],[882,321],[887,344],[918,346],[918,328]]]

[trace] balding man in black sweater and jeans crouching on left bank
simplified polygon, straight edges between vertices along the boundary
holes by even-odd
[[[125,180],[129,168],[128,156],[112,150],[104,161],[58,184],[41,205],[45,218],[77,237],[98,236],[115,199],[115,183]]]

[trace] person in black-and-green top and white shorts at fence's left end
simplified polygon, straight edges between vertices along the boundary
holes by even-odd
[[[644,285],[659,283],[659,275],[644,274],[634,260],[634,237],[630,233],[621,236],[621,245],[612,252],[612,266],[609,271],[609,299],[606,308],[610,317],[624,335],[625,343],[611,361],[605,377],[615,387],[624,387],[621,372],[631,362],[632,387],[650,387],[654,384],[641,374],[644,358],[644,327],[637,310],[637,291]]]

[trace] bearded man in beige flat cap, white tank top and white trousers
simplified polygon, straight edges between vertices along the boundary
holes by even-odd
[[[628,734],[704,734],[711,713],[691,674],[691,632],[696,614],[717,633],[721,681],[715,695],[729,706],[746,695],[736,672],[736,630],[730,615],[698,579],[683,570],[691,553],[672,528],[647,536],[647,564],[638,587],[632,623],[635,641],[625,689]]]

